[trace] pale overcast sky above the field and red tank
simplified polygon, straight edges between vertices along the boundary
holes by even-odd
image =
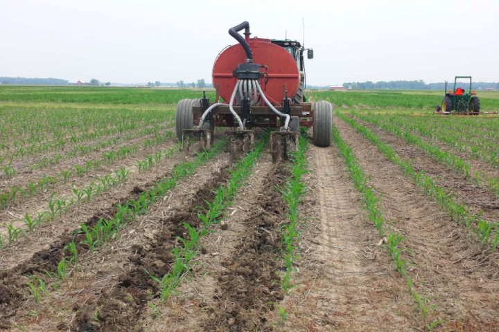
[[[211,80],[227,30],[303,39],[314,85],[499,81],[498,0],[0,0],[0,76]]]

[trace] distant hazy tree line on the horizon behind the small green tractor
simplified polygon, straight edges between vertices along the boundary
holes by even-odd
[[[454,85],[454,80],[448,81],[451,86]],[[460,86],[466,86],[466,82],[459,82]],[[351,82],[351,83],[343,83],[345,89],[349,89],[349,86],[352,89],[394,89],[394,90],[444,90],[445,83],[429,83],[426,84],[423,80],[419,81],[380,81],[380,82]],[[473,82],[473,89],[478,88],[496,88],[499,90],[499,82]],[[467,87],[467,86],[466,86]]]

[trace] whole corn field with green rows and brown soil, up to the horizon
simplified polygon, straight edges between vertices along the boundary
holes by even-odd
[[[0,330],[499,331],[499,116],[305,90],[331,145],[273,163],[186,151],[203,90],[0,86]]]

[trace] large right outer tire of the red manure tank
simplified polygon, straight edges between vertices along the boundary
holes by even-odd
[[[329,147],[333,135],[333,106],[319,100],[313,110],[313,143],[317,147]]]

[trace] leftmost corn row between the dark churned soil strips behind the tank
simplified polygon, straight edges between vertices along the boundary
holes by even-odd
[[[53,282],[53,288],[57,287],[61,282],[70,275],[68,271],[75,271],[78,268],[78,250],[79,245],[88,248],[92,254],[97,254],[98,250],[108,241],[119,237],[119,232],[125,225],[134,222],[138,216],[147,214],[152,204],[163,199],[171,190],[175,189],[177,183],[183,181],[188,176],[195,174],[198,167],[204,165],[209,160],[218,156],[225,147],[225,141],[216,142],[209,151],[198,152],[196,158],[188,163],[180,163],[175,165],[170,176],[161,178],[153,187],[142,192],[137,199],[130,199],[123,205],[116,206],[116,215],[110,219],[99,219],[94,227],[81,224],[81,230],[76,234],[85,234],[85,239],[76,243],[74,240],[64,246],[64,257],[58,264],[57,273],[47,273],[47,276]],[[180,251],[177,255],[180,257]],[[30,278],[29,276],[28,278]],[[37,278],[41,279],[41,278]],[[37,286],[40,282],[35,279]],[[43,282],[43,280],[42,280]],[[33,293],[33,291],[32,291]],[[37,294],[41,295],[40,292]],[[35,299],[37,298],[33,293]],[[39,297],[40,299],[40,297]]]

